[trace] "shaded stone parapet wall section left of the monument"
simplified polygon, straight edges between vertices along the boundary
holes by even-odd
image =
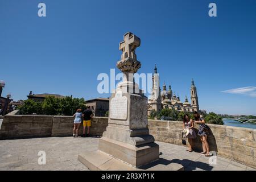
[[[65,137],[73,134],[72,116],[17,115],[15,110],[3,118],[0,139],[28,137]],[[93,118],[90,134],[101,136],[108,126],[108,118]],[[79,134],[82,134],[82,125]]]

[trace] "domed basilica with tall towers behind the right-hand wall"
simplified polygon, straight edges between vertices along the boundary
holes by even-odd
[[[157,72],[155,65],[154,74],[152,76],[152,92],[148,99],[148,115],[150,115],[152,110],[160,111],[164,108],[175,109],[177,111],[199,112],[197,91],[193,80],[190,89],[191,104],[189,103],[187,96],[185,96],[184,102],[181,102],[179,95],[176,96],[176,94],[172,92],[171,85],[168,86],[167,90],[166,84],[164,83],[163,90],[161,91],[159,81],[159,73]]]

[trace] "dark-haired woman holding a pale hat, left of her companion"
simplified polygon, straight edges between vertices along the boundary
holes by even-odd
[[[183,135],[185,135],[188,138],[188,150],[189,152],[192,152],[192,146],[193,146],[193,138],[196,138],[196,132],[193,129],[194,123],[193,119],[189,118],[188,114],[185,114],[183,117]]]

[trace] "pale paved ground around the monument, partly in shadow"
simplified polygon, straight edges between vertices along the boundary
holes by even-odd
[[[255,170],[221,157],[209,158],[188,152],[183,146],[156,142],[165,163],[180,163],[185,170]],[[97,150],[98,138],[49,137],[0,140],[0,170],[88,170],[78,160],[81,152]],[[46,152],[46,165],[38,164],[38,152]]]

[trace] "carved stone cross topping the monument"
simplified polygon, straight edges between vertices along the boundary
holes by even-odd
[[[122,51],[121,60],[130,57],[133,60],[137,60],[135,49],[141,45],[141,39],[131,32],[127,32],[123,35],[123,42],[119,44],[119,50]]]

